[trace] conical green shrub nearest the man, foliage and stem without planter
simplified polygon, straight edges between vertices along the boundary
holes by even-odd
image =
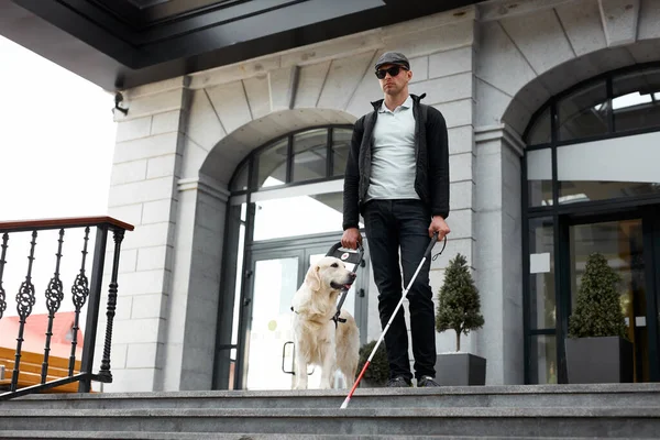
[[[482,328],[481,299],[468,267],[468,260],[457,254],[444,271],[444,284],[438,293],[436,330],[457,332],[457,351],[461,351],[461,333]]]

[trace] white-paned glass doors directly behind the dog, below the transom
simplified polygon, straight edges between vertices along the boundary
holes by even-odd
[[[261,244],[260,249],[251,251],[245,297],[241,307],[237,389],[293,388],[292,300],[307,270],[340,239],[341,235],[331,234],[298,243],[278,241]],[[353,270],[351,265],[346,267]],[[355,318],[362,343],[366,333],[369,270],[369,251],[365,248],[363,262],[356,268],[356,282],[342,306]],[[320,384],[320,369],[310,366],[307,374],[308,386],[317,387]],[[338,375],[336,386],[343,385]]]

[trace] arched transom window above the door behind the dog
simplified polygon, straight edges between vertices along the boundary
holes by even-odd
[[[341,231],[341,179],[352,134],[350,125],[292,132],[239,165],[230,205],[245,205],[243,217],[251,212],[243,219],[248,242]]]

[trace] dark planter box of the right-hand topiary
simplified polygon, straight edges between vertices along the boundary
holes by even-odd
[[[619,337],[568,338],[570,384],[632,382],[632,343]]]

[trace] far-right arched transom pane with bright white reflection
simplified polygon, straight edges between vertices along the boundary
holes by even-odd
[[[612,89],[616,131],[660,127],[660,69],[615,77]]]

